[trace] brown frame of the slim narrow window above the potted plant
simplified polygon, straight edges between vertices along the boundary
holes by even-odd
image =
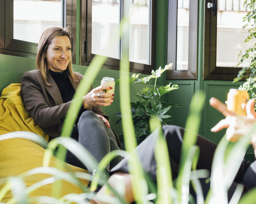
[[[167,63],[173,63],[172,70],[167,70],[168,80],[197,79],[198,7],[199,1],[189,0],[188,70],[176,70],[178,0],[168,0]]]

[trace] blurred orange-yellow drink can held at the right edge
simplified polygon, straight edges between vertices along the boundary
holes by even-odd
[[[246,115],[246,112],[242,109],[242,104],[247,104],[249,100],[249,94],[247,91],[230,89],[227,94],[227,109],[240,115]]]

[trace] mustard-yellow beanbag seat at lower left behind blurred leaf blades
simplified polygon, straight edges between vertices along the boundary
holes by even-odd
[[[0,178],[4,176],[19,175],[30,169],[42,167],[44,153],[44,148],[30,140],[15,138],[0,141]],[[54,163],[56,160],[56,157],[52,157],[50,167],[55,167]],[[66,165],[75,172],[88,172],[85,169],[69,164]],[[37,174],[27,176],[24,181],[27,186],[30,186],[48,177],[51,177],[51,175]],[[83,180],[82,182],[84,185],[88,185],[88,181]],[[5,184],[0,184],[0,189],[2,189],[4,185]],[[68,182],[62,181],[61,186],[61,196],[69,193],[82,193],[82,190]],[[51,196],[51,187],[52,184],[42,186],[33,191],[30,196]],[[7,202],[11,197],[11,192],[8,192],[1,202]]]

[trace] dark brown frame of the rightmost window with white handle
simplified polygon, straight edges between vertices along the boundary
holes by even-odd
[[[203,37],[203,80],[228,80],[233,81],[242,68],[217,67],[217,16],[204,1],[204,37]],[[218,7],[218,0],[216,0]],[[242,80],[246,80],[244,77]]]

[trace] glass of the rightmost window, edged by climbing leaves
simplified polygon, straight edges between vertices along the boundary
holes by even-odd
[[[242,28],[246,22],[243,17],[248,13],[243,0],[218,0],[217,16],[217,62],[218,67],[235,67],[240,50],[254,46],[253,40],[244,43],[248,36],[248,28]],[[240,67],[249,64],[245,60]]]

